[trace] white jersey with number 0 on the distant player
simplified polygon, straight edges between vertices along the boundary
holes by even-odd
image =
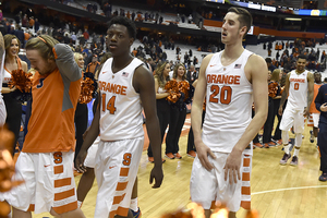
[[[291,71],[288,107],[303,110],[307,106],[307,73],[304,71],[296,74],[295,70]]]

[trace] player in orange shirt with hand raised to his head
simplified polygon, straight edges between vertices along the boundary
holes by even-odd
[[[74,113],[81,69],[68,45],[48,35],[32,38],[26,56],[37,72],[33,81],[32,117],[15,165],[25,183],[5,195],[14,218],[49,211],[56,217],[84,217],[77,208],[73,158]]]

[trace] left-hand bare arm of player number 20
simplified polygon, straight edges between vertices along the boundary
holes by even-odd
[[[192,110],[191,110],[191,124],[194,134],[194,144],[196,147],[197,157],[201,164],[207,169],[211,170],[214,166],[208,160],[208,155],[215,158],[215,155],[208,146],[206,146],[201,137],[202,132],[202,113],[203,102],[206,95],[207,78],[206,69],[211,60],[213,55],[205,57],[201,63],[199,74],[196,83],[196,88],[193,97]]]

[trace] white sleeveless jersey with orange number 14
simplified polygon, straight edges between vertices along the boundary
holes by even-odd
[[[112,73],[112,58],[108,59],[99,74],[100,138],[119,141],[141,137],[143,117],[140,94],[133,87],[135,69],[143,64],[136,58],[117,73]]]

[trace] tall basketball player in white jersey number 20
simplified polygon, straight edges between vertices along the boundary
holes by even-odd
[[[235,217],[240,206],[250,209],[251,141],[268,111],[267,64],[242,47],[251,24],[249,11],[230,8],[221,33],[225,50],[208,55],[199,70],[191,112],[197,156],[190,189],[192,201],[203,205],[207,218],[215,201],[227,204],[229,217]],[[253,100],[256,113],[251,119]],[[247,194],[242,202],[241,194]]]

